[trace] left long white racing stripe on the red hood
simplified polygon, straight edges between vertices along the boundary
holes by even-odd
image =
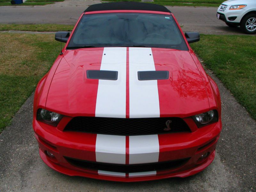
[[[118,71],[116,81],[99,80],[96,117],[126,116],[126,47],[105,47],[100,70]]]

